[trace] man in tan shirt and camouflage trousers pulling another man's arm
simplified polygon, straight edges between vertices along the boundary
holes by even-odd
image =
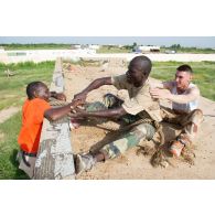
[[[135,57],[125,75],[104,77],[94,80],[82,93],[75,95],[74,100],[85,103],[87,94],[103,85],[114,85],[117,89],[127,89],[129,97],[120,100],[112,95],[105,97],[107,108],[103,110],[77,110],[72,115],[78,117],[97,118],[120,118],[126,119],[128,123],[141,118],[148,118],[151,121],[160,122],[160,106],[158,99],[150,95],[149,74],[151,72],[151,61],[147,56]],[[127,149],[137,146],[141,140],[153,138],[155,128],[153,123],[142,122],[128,131],[123,137],[103,147],[96,154],[77,154],[76,172],[89,170],[96,162],[114,159]]]

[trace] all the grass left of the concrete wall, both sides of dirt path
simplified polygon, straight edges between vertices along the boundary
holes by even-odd
[[[7,68],[14,71],[15,75],[7,77],[3,73]],[[0,109],[20,107],[26,98],[26,84],[42,80],[50,85],[53,71],[54,62],[0,64]],[[28,179],[25,173],[18,169],[15,161],[20,128],[21,111],[0,125],[0,179]]]

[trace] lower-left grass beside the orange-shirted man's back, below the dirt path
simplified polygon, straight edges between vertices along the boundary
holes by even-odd
[[[0,125],[0,133],[3,133],[3,139],[0,141],[0,180],[29,179],[23,171],[18,169],[19,163],[15,161],[20,128],[21,111]]]

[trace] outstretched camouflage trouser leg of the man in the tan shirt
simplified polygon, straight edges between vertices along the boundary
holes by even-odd
[[[104,153],[105,159],[114,159],[119,154],[139,144],[142,140],[151,140],[155,133],[155,129],[150,123],[141,123],[133,127],[121,139],[110,142],[103,147],[99,151]]]

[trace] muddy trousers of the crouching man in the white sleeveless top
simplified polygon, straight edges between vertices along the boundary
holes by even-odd
[[[195,109],[189,114],[179,114],[170,108],[162,107],[161,116],[163,121],[182,126],[182,132],[178,136],[185,136],[191,142],[196,137],[197,130],[203,121],[203,112]]]

